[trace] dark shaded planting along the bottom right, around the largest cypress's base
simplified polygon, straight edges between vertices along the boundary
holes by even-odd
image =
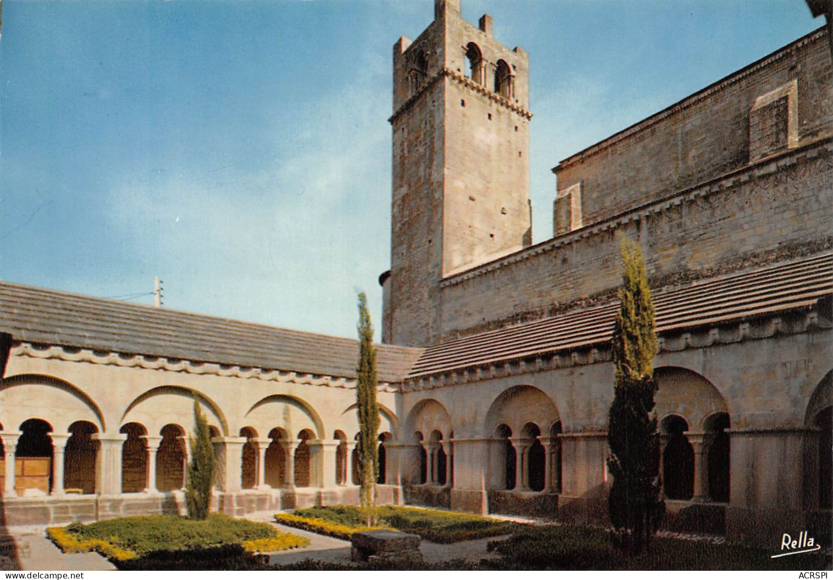
[[[760,547],[656,537],[648,550],[626,557],[611,547],[608,532],[593,527],[528,526],[490,542],[500,558],[481,565],[514,570],[827,570],[831,558],[800,554],[772,559]],[[785,561],[788,560],[788,561]]]

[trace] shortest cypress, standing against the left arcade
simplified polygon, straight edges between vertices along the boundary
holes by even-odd
[[[214,485],[214,447],[208,422],[194,398],[194,434],[188,437],[191,443],[191,462],[185,473],[185,502],[188,517],[204,520],[208,517]]]

